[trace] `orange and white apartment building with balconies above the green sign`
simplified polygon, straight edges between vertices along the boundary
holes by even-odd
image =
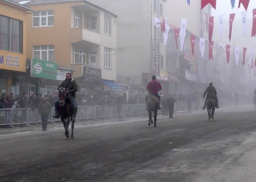
[[[72,73],[78,93],[124,90],[116,81],[116,18],[112,12],[82,0],[22,2],[28,15],[27,58],[35,92],[52,94]],[[48,65],[45,73],[34,67]],[[50,73],[52,75],[49,76]]]

